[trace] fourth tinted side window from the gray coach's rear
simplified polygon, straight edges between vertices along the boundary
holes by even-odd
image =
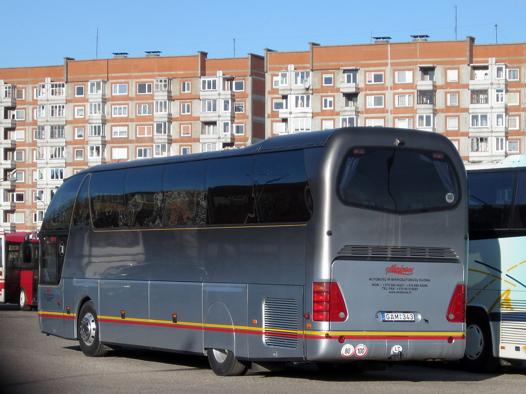
[[[138,167],[126,171],[124,201],[128,227],[160,226],[164,196],[161,186],[163,166]]]

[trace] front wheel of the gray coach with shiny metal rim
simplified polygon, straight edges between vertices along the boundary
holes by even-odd
[[[88,357],[102,357],[108,350],[99,340],[99,329],[95,306],[91,301],[80,308],[77,320],[77,336],[80,349]]]

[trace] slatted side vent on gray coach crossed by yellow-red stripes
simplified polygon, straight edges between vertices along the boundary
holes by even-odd
[[[295,299],[267,298],[264,303],[264,340],[268,346],[298,346],[298,304]]]

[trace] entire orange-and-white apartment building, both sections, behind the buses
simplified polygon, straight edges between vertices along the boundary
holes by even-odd
[[[0,69],[0,228],[38,230],[56,188],[80,169],[284,133],[417,128],[449,137],[466,162],[526,153],[526,43],[390,40]]]

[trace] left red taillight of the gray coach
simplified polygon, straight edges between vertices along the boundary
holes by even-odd
[[[312,286],[312,320],[315,322],[343,322],[347,307],[340,286],[336,282],[315,282]]]

